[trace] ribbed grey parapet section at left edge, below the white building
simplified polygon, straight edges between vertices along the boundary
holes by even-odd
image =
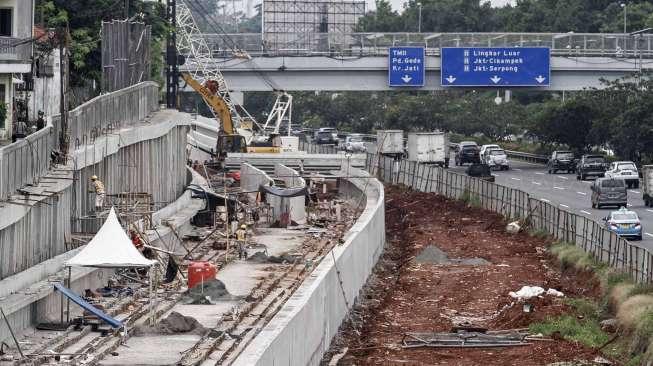
[[[20,187],[37,184],[45,175],[56,141],[53,130],[47,126],[0,148],[0,200],[8,199]]]

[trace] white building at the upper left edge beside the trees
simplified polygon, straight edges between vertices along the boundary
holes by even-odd
[[[0,101],[7,107],[0,140],[11,138],[16,86],[32,69],[33,26],[34,0],[0,0]]]

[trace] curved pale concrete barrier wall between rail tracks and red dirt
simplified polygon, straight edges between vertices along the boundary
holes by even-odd
[[[351,170],[356,177],[367,175],[360,169]],[[349,311],[347,305],[356,301],[385,244],[381,183],[371,178],[351,178],[342,182],[340,189],[352,202],[358,202],[363,192],[366,200],[362,201],[365,210],[346,233],[345,243],[333,249],[335,262],[331,255],[324,258],[234,365],[320,364]]]

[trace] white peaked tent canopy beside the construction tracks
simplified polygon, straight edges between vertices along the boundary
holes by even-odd
[[[123,268],[150,267],[154,263],[156,261],[145,258],[136,249],[120,226],[112,207],[107,220],[97,234],[84,249],[66,262],[66,266]]]

